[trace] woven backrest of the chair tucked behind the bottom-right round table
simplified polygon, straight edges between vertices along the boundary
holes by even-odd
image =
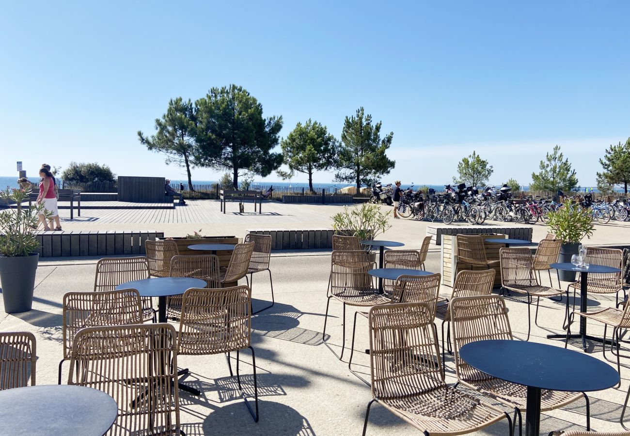
[[[505,301],[500,295],[457,297],[449,302],[453,326],[455,372],[461,380],[488,380],[491,376],[474,369],[459,358],[459,349],[482,340],[512,340],[512,329]]]

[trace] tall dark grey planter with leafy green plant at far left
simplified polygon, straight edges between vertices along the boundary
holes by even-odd
[[[42,213],[43,205],[33,204],[26,208],[22,202],[28,200],[30,191],[12,189],[0,192],[0,197],[9,206],[0,213],[0,286],[6,313],[31,310],[35,272],[40,247],[37,232],[37,214]]]

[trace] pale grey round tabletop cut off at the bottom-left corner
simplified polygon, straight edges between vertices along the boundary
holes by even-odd
[[[102,436],[117,415],[116,401],[91,387],[54,384],[0,391],[1,436]]]

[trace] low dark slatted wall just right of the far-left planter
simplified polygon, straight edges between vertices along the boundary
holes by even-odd
[[[164,238],[163,232],[50,231],[35,236],[40,257],[144,255],[144,241]]]

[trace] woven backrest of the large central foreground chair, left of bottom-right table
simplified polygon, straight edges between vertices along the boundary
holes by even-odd
[[[445,386],[427,304],[373,306],[369,323],[372,396],[403,399]]]

